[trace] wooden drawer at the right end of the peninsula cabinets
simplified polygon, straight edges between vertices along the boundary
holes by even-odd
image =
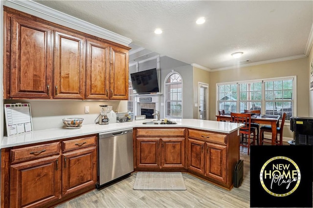
[[[189,137],[226,145],[226,135],[189,129]]]

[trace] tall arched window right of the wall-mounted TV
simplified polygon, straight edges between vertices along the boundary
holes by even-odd
[[[182,79],[179,73],[172,70],[164,82],[165,116],[182,118]]]

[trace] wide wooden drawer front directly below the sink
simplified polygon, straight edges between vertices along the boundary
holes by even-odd
[[[137,128],[136,136],[184,136],[184,128]]]

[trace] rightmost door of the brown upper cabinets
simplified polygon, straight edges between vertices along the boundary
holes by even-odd
[[[128,100],[128,50],[111,48],[110,99]]]

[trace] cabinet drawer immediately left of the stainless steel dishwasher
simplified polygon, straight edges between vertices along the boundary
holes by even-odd
[[[96,145],[96,136],[83,137],[80,139],[63,141],[63,151],[79,149],[79,148],[84,148],[86,146],[95,146],[95,145]]]

